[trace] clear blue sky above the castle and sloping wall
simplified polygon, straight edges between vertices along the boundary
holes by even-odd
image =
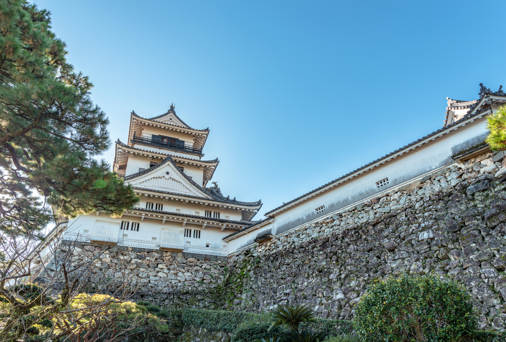
[[[262,199],[257,219],[441,128],[446,96],[506,86],[504,1],[36,4],[94,83],[111,140],[126,142],[133,109],[174,102],[209,127],[225,196]]]

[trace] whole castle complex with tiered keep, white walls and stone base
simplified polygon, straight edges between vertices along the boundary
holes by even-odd
[[[374,279],[434,272],[470,289],[481,327],[502,330],[506,173],[484,139],[486,116],[503,103],[501,88],[483,85],[478,99],[448,99],[441,129],[256,220],[260,201],[208,186],[218,165],[200,160],[208,130],[190,128],[173,107],[152,119],[132,113],[114,168],[141,196],[138,207],[119,219],[64,219],[37,251],[47,254],[60,232],[79,241],[76,258],[116,244],[89,281],[113,278],[126,260],[138,296],[159,305],[306,303],[342,319]]]

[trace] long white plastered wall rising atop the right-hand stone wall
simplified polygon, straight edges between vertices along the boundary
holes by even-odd
[[[493,107],[493,109],[495,108]],[[269,226],[262,226],[261,229],[230,240],[230,253],[251,245],[254,243],[255,237],[267,229],[271,229],[272,235],[282,234],[332,212],[339,212],[346,207],[390,191],[392,188],[409,183],[437,169],[455,164],[451,159],[453,154],[484,140],[488,134],[486,118],[470,119],[463,125],[460,124],[455,128],[441,132],[441,134],[429,138],[429,143],[410,149],[414,147],[412,146],[408,153],[336,185],[326,192],[280,212],[274,211],[268,215],[274,216],[274,222]],[[435,139],[432,140],[433,138]],[[376,182],[385,178],[388,178],[388,185],[378,188]],[[317,213],[316,208],[322,206],[325,207],[325,210]]]

